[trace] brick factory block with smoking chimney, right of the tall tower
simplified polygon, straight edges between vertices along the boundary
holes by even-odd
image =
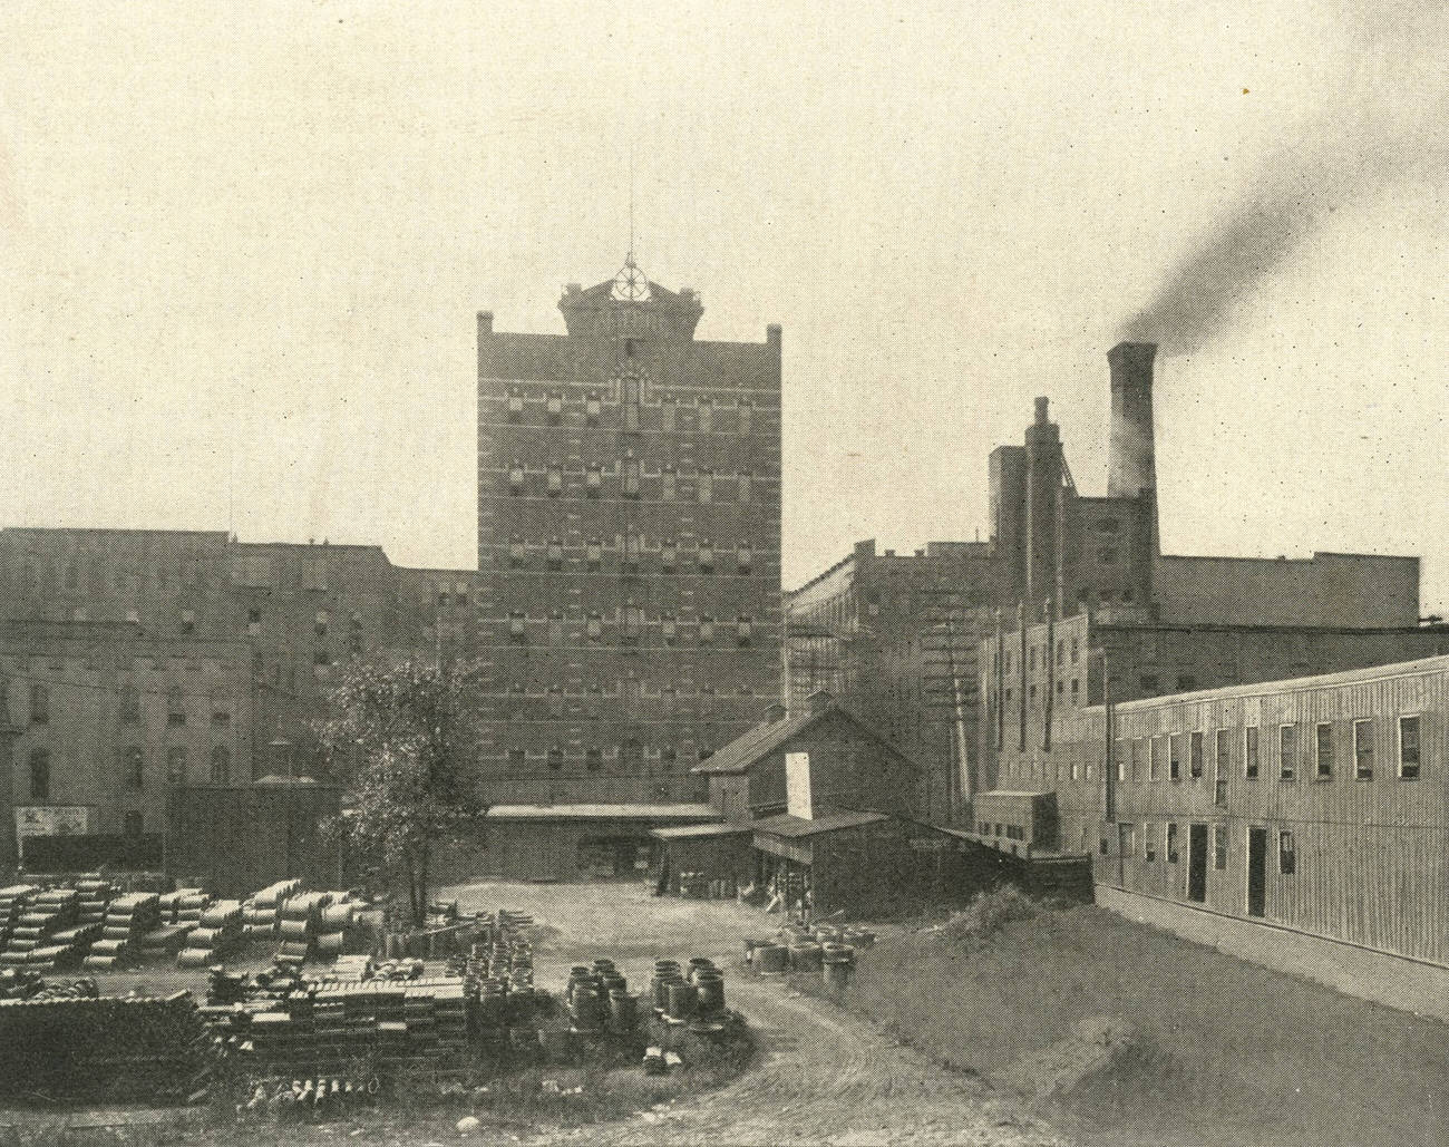
[[[945,792],[952,815],[962,815],[971,795],[993,782],[990,762],[982,760],[984,730],[978,728],[982,698],[974,695],[974,684],[959,682],[980,679],[978,650],[997,630],[997,615],[1020,629],[1090,611],[1094,624],[1117,626],[1122,633],[1145,627],[1143,642],[1169,640],[1165,633],[1187,627],[1190,636],[1172,643],[1175,649],[1193,647],[1181,656],[1197,669],[1143,668],[1123,676],[1124,689],[1153,679],[1151,692],[1190,688],[1181,681],[1232,679],[1222,669],[1235,660],[1230,652],[1208,657],[1211,666],[1203,666],[1211,646],[1204,627],[1252,630],[1259,637],[1246,636],[1249,644],[1271,642],[1265,634],[1275,627],[1321,630],[1301,639],[1319,650],[1308,660],[1349,668],[1375,663],[1365,657],[1378,655],[1365,653],[1348,631],[1413,630],[1419,623],[1417,558],[1316,553],[1311,559],[1264,560],[1159,552],[1155,353],[1151,343],[1120,343],[1107,355],[1111,433],[1106,497],[1088,497],[1077,488],[1061,433],[1048,417],[1048,401],[1037,398],[1024,445],[991,453],[987,543],[932,543],[910,558],[890,550],[881,558],[874,543],[861,543],[790,595],[791,702],[798,704],[813,688],[832,688],[843,705],[869,717],[916,756],[927,775],[949,781],[935,788]],[[1335,656],[1332,646],[1346,633],[1343,656]],[[1403,652],[1388,653],[1416,656],[1407,650],[1417,649],[1417,639],[1406,640]],[[1259,673],[1269,672],[1288,675],[1293,659],[1269,659],[1258,669],[1245,663],[1237,679],[1264,679]],[[1055,684],[1065,688],[1066,678]],[[965,694],[959,720],[958,692]],[[1040,701],[1051,704],[1052,698]],[[942,818],[939,799],[932,815]]]

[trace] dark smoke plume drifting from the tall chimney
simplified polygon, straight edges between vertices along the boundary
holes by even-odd
[[[1119,327],[1174,353],[1213,343],[1237,308],[1337,210],[1449,177],[1446,17],[1419,6],[1346,22],[1352,58],[1307,136],[1266,156],[1253,185],[1174,264],[1148,306]]]

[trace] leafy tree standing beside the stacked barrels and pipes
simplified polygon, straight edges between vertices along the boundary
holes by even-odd
[[[391,886],[406,883],[414,925],[427,912],[433,849],[483,811],[467,781],[471,678],[454,662],[355,659],[314,724],[323,759],[348,789],[338,831]]]

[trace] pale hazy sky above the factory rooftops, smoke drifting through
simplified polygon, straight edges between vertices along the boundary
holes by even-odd
[[[1164,549],[1449,602],[1440,17],[1339,3],[0,7],[0,523],[475,560],[475,311],[784,327],[784,581],[987,536],[1164,342]],[[630,156],[633,178],[630,180]],[[1224,285],[1226,284],[1226,285]]]

